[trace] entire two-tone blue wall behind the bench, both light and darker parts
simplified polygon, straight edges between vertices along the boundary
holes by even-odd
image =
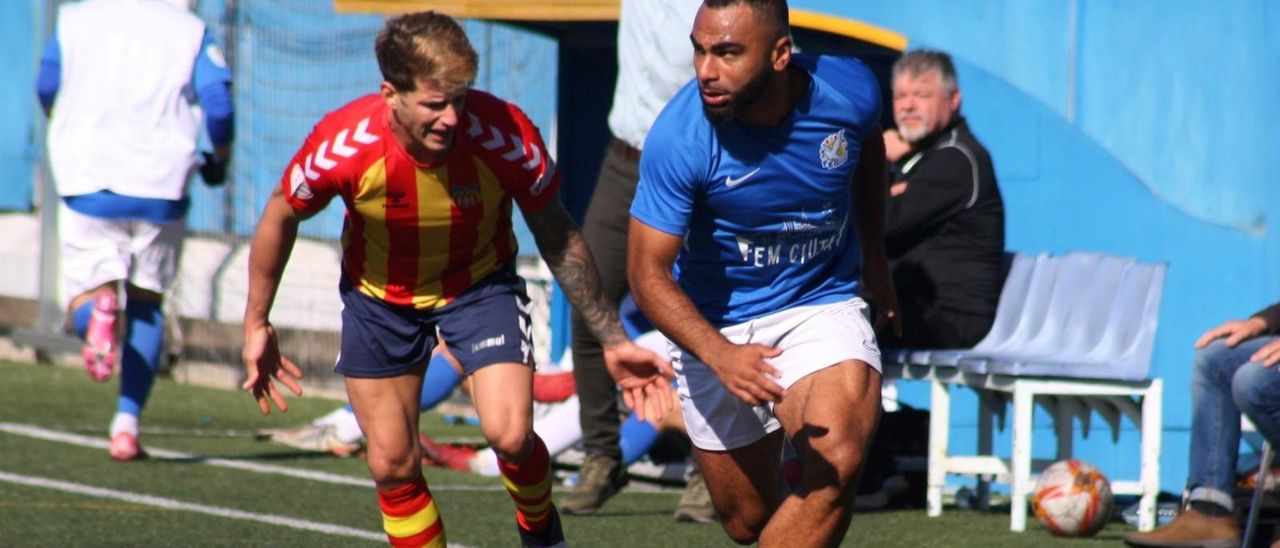
[[[1280,184],[1268,177],[1280,159],[1280,8],[1206,0],[792,6],[859,19],[905,35],[910,47],[955,56],[963,111],[995,159],[1011,250],[1093,250],[1169,264],[1151,374],[1165,379],[1161,487],[1179,492],[1192,342],[1280,297],[1280,236],[1268,227],[1280,204]],[[923,387],[904,392],[908,402],[927,401]],[[973,408],[972,397],[960,397],[954,414],[965,419]],[[1037,423],[1047,428],[1046,419]],[[972,419],[957,426],[952,447],[972,449]],[[1051,439],[1042,429],[1036,457],[1052,456]],[[1076,453],[1116,476],[1138,471],[1133,431],[1116,446],[1078,444]]]

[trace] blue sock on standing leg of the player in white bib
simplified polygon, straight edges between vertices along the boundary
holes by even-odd
[[[76,311],[77,329],[78,316]],[[120,359],[120,397],[115,408],[118,412],[133,416],[142,415],[160,369],[160,350],[164,346],[164,314],[159,302],[131,300],[124,309],[127,334],[124,352]],[[86,326],[88,320],[84,321]]]

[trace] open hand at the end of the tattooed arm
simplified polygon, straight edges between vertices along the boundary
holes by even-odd
[[[671,362],[650,350],[626,341],[604,348],[604,366],[622,388],[622,399],[640,420],[659,421],[672,410],[676,393]]]

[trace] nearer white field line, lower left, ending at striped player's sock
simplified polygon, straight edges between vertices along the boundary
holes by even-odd
[[[0,481],[38,487],[45,489],[56,489],[67,493],[83,494],[90,497],[113,498],[116,501],[132,502],[134,504],[154,506],[165,510],[182,510],[187,512],[207,513],[210,516],[227,517],[232,520],[259,521],[262,524],[280,525],[285,528],[301,529],[305,531],[324,533],[326,535],[352,536],[357,539],[374,540],[379,543],[387,542],[387,535],[383,533],[366,531],[362,529],[346,528],[342,525],[321,524],[319,521],[298,520],[296,517],[275,516],[270,513],[246,512],[243,510],[223,508],[218,506],[196,504],[192,502],[182,502],[172,498],[155,497],[150,494],[105,489],[100,487],[83,485],[78,483],[61,481],[49,478],[10,474],[3,470],[0,470]]]

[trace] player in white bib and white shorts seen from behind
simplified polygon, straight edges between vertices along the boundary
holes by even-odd
[[[49,166],[61,196],[63,294],[90,376],[105,382],[120,362],[110,426],[118,461],[146,456],[138,416],[160,365],[161,301],[182,255],[187,183],[196,169],[209,184],[227,177],[230,79],[205,23],[151,0],[61,5],[41,58],[36,91],[50,113]],[[201,125],[214,145],[202,164]]]

